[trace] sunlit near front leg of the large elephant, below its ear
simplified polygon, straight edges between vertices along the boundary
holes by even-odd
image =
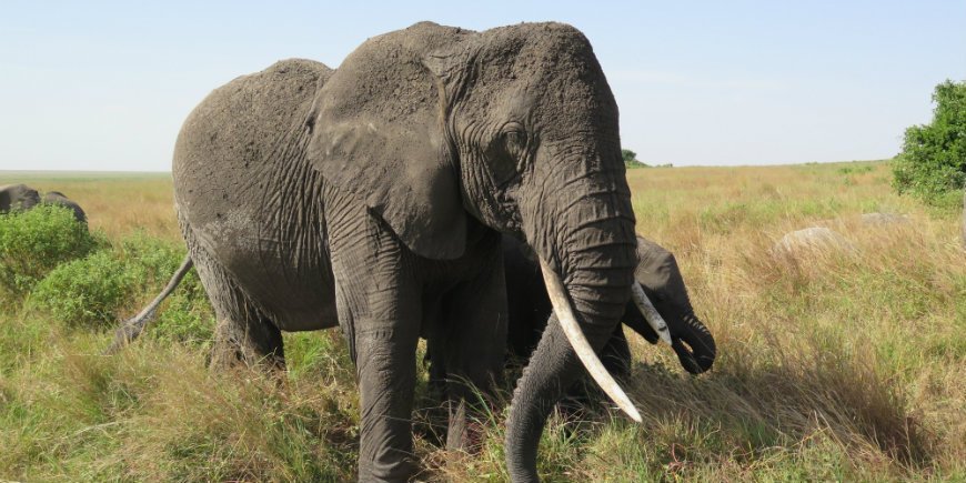
[[[422,321],[417,261],[361,207],[329,204],[330,250],[341,325],[360,390],[359,480],[406,481],[412,457],[416,342]]]

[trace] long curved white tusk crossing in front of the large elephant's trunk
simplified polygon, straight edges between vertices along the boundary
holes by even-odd
[[[574,351],[577,353],[577,358],[580,358],[584,366],[587,368],[587,372],[591,373],[594,381],[596,381],[601,389],[603,389],[604,392],[617,404],[617,407],[627,413],[632,420],[640,423],[642,421],[641,413],[638,413],[637,409],[634,407],[634,404],[631,402],[631,399],[627,398],[627,394],[624,393],[624,390],[617,385],[617,381],[614,381],[611,373],[604,369],[601,359],[597,358],[594,349],[591,348],[591,343],[587,342],[587,338],[584,336],[584,332],[581,330],[580,324],[577,324],[577,319],[574,316],[574,312],[571,309],[571,303],[570,300],[567,300],[566,290],[564,289],[563,283],[561,283],[556,273],[554,273],[553,269],[551,269],[543,259],[540,260],[540,268],[543,271],[543,283],[546,284],[546,292],[550,295],[551,303],[553,304],[553,311],[556,314],[557,321],[560,321],[564,334],[574,348]]]

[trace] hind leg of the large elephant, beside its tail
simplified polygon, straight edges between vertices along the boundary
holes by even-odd
[[[284,369],[279,328],[204,249],[191,250],[191,258],[217,319],[212,366],[230,368],[242,363],[270,370]]]

